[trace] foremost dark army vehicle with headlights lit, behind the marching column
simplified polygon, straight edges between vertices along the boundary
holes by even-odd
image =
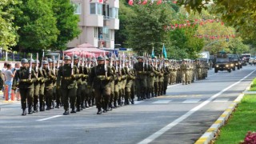
[[[230,73],[232,68],[234,68],[234,64],[230,62],[230,58],[216,58],[214,65],[215,73],[218,73],[218,70],[227,70]]]

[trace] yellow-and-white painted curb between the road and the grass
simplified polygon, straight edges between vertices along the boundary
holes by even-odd
[[[253,82],[250,83],[249,86],[246,87],[246,90],[250,89],[250,86],[253,84]],[[236,98],[230,106],[222,113],[222,115],[214,122],[212,126],[200,138],[198,138],[198,141],[194,142],[194,144],[209,144],[214,143],[213,140],[216,135],[218,135],[219,128],[222,127],[226,120],[230,117],[230,114],[234,111],[235,107],[238,106],[238,103],[241,102],[244,92],[242,94],[239,94],[238,98]]]

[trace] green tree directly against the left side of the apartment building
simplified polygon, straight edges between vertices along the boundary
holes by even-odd
[[[70,0],[53,0],[54,17],[57,20],[59,31],[56,42],[50,46],[54,50],[64,50],[67,42],[78,37],[81,31],[78,29],[79,18],[74,14],[76,7]]]

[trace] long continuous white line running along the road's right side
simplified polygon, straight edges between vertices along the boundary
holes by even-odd
[[[254,70],[256,71],[256,70]],[[254,71],[252,71],[250,74],[253,74]],[[154,141],[154,139],[158,138],[162,134],[164,134],[167,130],[170,130],[174,126],[178,125],[179,122],[182,122],[184,119],[188,118],[191,114],[194,114],[196,111],[201,109],[203,106],[206,106],[209,102],[211,102],[214,98],[218,97],[220,94],[224,93],[226,90],[229,90],[231,87],[237,85],[238,83],[242,82],[244,79],[250,76],[250,74],[246,75],[244,78],[240,79],[238,82],[233,83],[232,85],[226,87],[222,91],[218,92],[217,94],[214,94],[212,97],[208,98],[205,102],[202,102],[200,105],[195,106],[192,110],[188,111],[186,114],[182,115],[181,117],[174,120],[174,122],[170,122],[167,126],[163,127],[161,130],[158,130],[154,134],[151,134],[148,138],[145,138],[142,140],[142,142],[138,142],[138,144],[144,144]]]

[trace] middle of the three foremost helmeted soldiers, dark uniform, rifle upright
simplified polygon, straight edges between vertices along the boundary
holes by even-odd
[[[63,115],[67,114],[74,114],[75,111],[75,97],[76,97],[76,89],[77,89],[77,82],[76,77],[78,74],[77,66],[71,65],[71,58],[70,56],[64,57],[64,65],[61,66],[58,70],[58,77],[57,77],[57,89],[61,89],[62,97],[64,102],[64,113]],[[69,112],[69,100],[71,111]]]

